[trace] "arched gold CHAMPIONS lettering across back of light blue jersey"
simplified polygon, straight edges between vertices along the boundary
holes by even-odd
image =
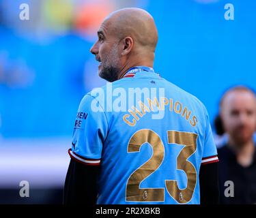
[[[189,110],[186,106],[182,105],[181,102],[175,101],[173,99],[168,99],[167,97],[160,97],[160,101],[154,97],[154,99],[147,98],[148,106],[146,106],[143,102],[139,101],[139,108],[132,106],[131,109],[128,110],[128,114],[124,114],[123,121],[133,127],[137,124],[137,121],[141,119],[146,112],[154,112],[156,108],[158,110],[167,110],[166,106],[168,106],[168,110],[170,112],[175,112],[176,114],[180,114],[180,116],[184,117],[191,126],[195,127],[197,125],[197,116],[193,115],[191,110]]]

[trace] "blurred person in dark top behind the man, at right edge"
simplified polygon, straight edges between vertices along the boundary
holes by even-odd
[[[217,134],[227,134],[226,144],[218,149],[221,204],[255,204],[255,92],[242,86],[229,89],[221,99],[214,124]]]

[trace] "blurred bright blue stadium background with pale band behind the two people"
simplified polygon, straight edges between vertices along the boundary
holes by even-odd
[[[29,20],[19,18],[22,3]],[[0,0],[0,185],[42,188],[40,175],[63,185],[79,102],[105,84],[89,48],[102,18],[122,7],[154,16],[156,72],[201,99],[211,121],[228,87],[256,89],[255,0]]]

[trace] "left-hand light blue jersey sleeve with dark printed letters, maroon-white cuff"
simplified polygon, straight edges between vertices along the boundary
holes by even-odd
[[[68,150],[72,159],[86,165],[100,165],[102,146],[108,129],[103,109],[91,109],[91,104],[95,101],[89,94],[83,97],[74,123],[72,149]]]

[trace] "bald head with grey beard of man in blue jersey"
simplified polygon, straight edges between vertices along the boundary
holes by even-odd
[[[153,67],[158,33],[152,16],[139,8],[124,8],[107,16],[98,29],[91,53],[100,61],[99,76],[109,82],[130,67]]]

